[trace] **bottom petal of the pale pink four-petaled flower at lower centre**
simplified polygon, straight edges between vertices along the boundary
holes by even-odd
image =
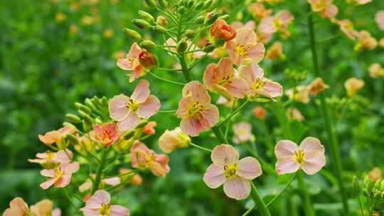
[[[244,200],[250,195],[250,180],[235,176],[225,180],[224,193],[229,198]]]

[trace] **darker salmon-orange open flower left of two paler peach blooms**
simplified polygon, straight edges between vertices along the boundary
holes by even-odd
[[[212,92],[220,92],[225,97],[245,97],[247,82],[235,77],[233,61],[222,58],[218,65],[211,63],[207,66],[203,76],[204,85]]]

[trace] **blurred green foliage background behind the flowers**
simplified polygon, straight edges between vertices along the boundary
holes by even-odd
[[[223,1],[223,4],[233,2]],[[230,21],[235,21],[239,11],[247,14],[241,2],[240,6],[228,9]],[[384,36],[373,21],[375,11],[384,9],[384,1],[376,0],[366,6],[354,7],[346,6],[344,1],[335,1],[335,4],[341,9],[338,16],[353,20],[356,29],[367,29],[375,38]],[[303,82],[307,84],[314,76],[304,1],[267,7],[274,12],[289,9],[295,21],[289,28],[292,36],[283,41],[287,60],[279,63],[264,60],[262,68],[268,77],[282,83],[284,89],[292,87],[284,77],[284,70],[308,70],[309,76]],[[53,199],[64,215],[70,215],[65,211],[68,203],[63,193],[53,188],[47,192],[38,187],[43,181],[39,175],[40,167],[28,163],[27,159],[46,150],[37,135],[58,129],[65,120],[65,113],[75,113],[74,102],[94,95],[130,95],[136,82],[129,84],[126,73],[117,68],[116,60],[122,58],[132,45],[132,41],[122,33],[122,28],[134,28],[132,18],[136,18],[137,11],[142,8],[139,0],[0,1],[0,212],[12,198],[20,196],[30,205],[43,198]],[[244,21],[250,18],[244,17]],[[370,78],[367,70],[371,63],[384,64],[383,48],[353,53],[353,42],[341,36],[334,24],[316,16],[315,28],[318,30],[316,37],[320,39],[340,35],[319,43],[321,70],[326,73],[325,82],[331,86],[329,92],[340,99],[346,95],[343,82],[348,77],[356,76],[366,82],[359,93],[361,96],[343,107],[341,121],[338,121],[341,115],[339,100],[334,98],[333,117],[338,122],[346,188],[350,189],[352,175],[361,176],[375,166],[384,165],[384,82],[383,78]],[[150,32],[146,37],[162,43],[160,37]],[[282,38],[275,36],[274,41],[277,40]],[[174,65],[169,55],[159,52],[158,56],[162,68]],[[206,63],[213,61],[208,59]],[[193,70],[194,76],[200,80],[206,63]],[[182,75],[162,73],[162,77],[183,81]],[[145,79],[150,80],[151,91],[161,100],[161,109],[177,108],[181,87],[149,75]],[[265,107],[270,111],[274,109],[271,106]],[[296,123],[295,136],[298,139],[304,134],[317,136],[326,143],[316,99],[311,99],[310,104],[299,104],[298,108],[306,121]],[[226,113],[228,109],[220,107],[220,111]],[[165,129],[173,129],[179,122],[172,114],[158,114],[153,119],[158,122],[158,133],[147,144],[159,151],[156,147],[159,135]],[[258,145],[265,139],[278,141],[283,138],[282,128],[272,112],[268,113],[265,123],[252,116],[252,105],[249,105],[242,115],[235,117],[234,122],[240,120],[250,121]],[[264,124],[270,133],[260,126]],[[195,142],[209,147],[216,144],[208,133]],[[119,202],[129,207],[132,215],[241,215],[245,211],[247,200],[230,200],[221,189],[211,190],[203,183],[202,173],[210,163],[206,153],[188,148],[178,150],[170,157],[171,173],[166,178],[154,178],[146,173],[143,185],[118,193]],[[273,156],[266,156],[266,160],[273,165]],[[319,215],[332,215],[341,206],[337,203],[337,191],[331,186],[334,178],[330,173],[329,162],[324,173],[307,178]],[[263,175],[260,178],[263,195],[272,195],[286,181],[284,176]],[[290,215],[291,209],[296,209],[301,203],[293,194],[288,193],[274,205],[272,212]],[[356,202],[351,202],[356,205]]]

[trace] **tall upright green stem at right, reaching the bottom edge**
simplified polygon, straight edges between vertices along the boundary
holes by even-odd
[[[309,10],[311,10],[310,6],[308,6]],[[314,21],[312,18],[312,14],[309,14],[308,16],[308,31],[309,31],[309,42],[311,44],[311,52],[312,52],[312,61],[314,64],[314,71],[317,77],[321,77],[320,70],[319,70],[319,63],[317,58],[317,50],[316,50],[316,38],[314,33]],[[338,180],[338,188],[340,190],[341,194],[341,202],[343,203],[343,214],[348,215],[348,202],[347,202],[347,195],[346,191],[343,185],[343,167],[341,165],[341,157],[340,157],[340,150],[338,147],[338,139],[336,134],[334,133],[334,128],[331,123],[331,119],[329,117],[329,107],[327,107],[326,99],[324,96],[324,92],[321,92],[319,94],[320,97],[320,109],[322,113],[322,117],[324,119],[324,126],[326,128],[326,134],[329,137],[329,141],[331,143],[331,156],[332,156],[332,162],[334,165],[334,170],[336,172],[336,178]]]

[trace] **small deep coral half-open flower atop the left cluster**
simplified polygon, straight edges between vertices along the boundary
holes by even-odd
[[[114,144],[114,141],[119,138],[119,131],[117,131],[117,126],[114,123],[96,124],[93,126],[93,129],[95,130],[97,141],[101,141],[105,146]]]

